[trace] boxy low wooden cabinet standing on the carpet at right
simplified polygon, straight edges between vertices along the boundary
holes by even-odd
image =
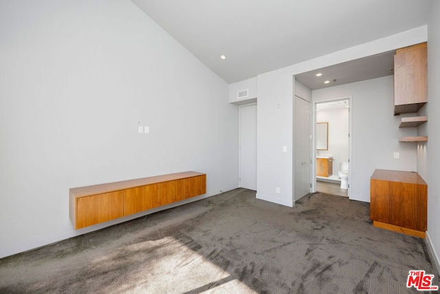
[[[370,193],[370,216],[375,227],[425,238],[428,185],[419,174],[376,169]]]

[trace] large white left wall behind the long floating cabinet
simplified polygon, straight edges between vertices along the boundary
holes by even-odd
[[[1,1],[0,52],[0,258],[96,229],[74,231],[72,187],[187,170],[207,196],[238,187],[228,84],[131,1]]]

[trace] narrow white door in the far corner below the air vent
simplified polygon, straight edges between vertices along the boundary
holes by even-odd
[[[256,104],[241,105],[239,187],[256,190]]]

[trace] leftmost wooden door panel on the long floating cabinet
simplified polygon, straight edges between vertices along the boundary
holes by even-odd
[[[123,216],[124,191],[80,197],[76,207],[76,229]]]

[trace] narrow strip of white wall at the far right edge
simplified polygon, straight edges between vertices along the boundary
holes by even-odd
[[[423,165],[428,166],[428,240],[440,271],[440,1],[432,1],[428,23],[428,147],[421,145]],[[428,151],[426,151],[426,149]],[[426,156],[428,153],[428,156]]]

